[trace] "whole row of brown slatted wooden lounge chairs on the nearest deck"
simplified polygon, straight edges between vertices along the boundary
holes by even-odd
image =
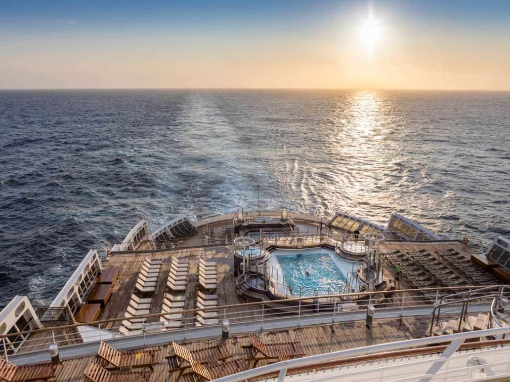
[[[248,370],[260,360],[284,361],[306,355],[300,342],[264,343],[256,336],[249,335],[250,345],[243,346],[246,357],[232,359],[226,345],[215,345],[188,350],[172,343],[165,356],[169,372],[179,371],[179,377],[213,380]],[[163,349],[135,349],[119,351],[101,341],[96,354],[83,375],[90,382],[148,382],[154,366],[162,362]],[[250,365],[253,363],[252,365]],[[16,366],[0,358],[0,375],[3,380],[54,380],[57,363]],[[143,370],[148,368],[149,370]],[[135,370],[142,369],[142,370]],[[127,370],[127,371],[123,371]]]

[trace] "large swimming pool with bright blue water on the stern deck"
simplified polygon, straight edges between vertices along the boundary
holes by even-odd
[[[348,273],[359,267],[359,263],[324,248],[279,249],[271,253],[270,261],[277,269],[278,282],[283,281],[284,275],[285,282],[292,286],[293,296],[299,295],[299,290],[304,296],[312,296],[316,289],[319,295],[325,295],[328,291],[338,293],[348,281]],[[356,277],[353,282],[352,286],[357,286],[359,279]]]

